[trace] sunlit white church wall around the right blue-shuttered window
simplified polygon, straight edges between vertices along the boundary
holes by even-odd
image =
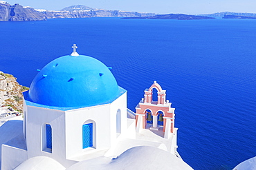
[[[82,125],[91,121],[95,123],[93,148],[100,150],[110,147],[109,112],[109,104],[66,111],[66,158],[91,152],[91,148],[82,148]]]

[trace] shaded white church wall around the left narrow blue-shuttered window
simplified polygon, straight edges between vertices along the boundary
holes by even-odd
[[[26,143],[28,158],[48,156],[69,167],[74,162],[66,161],[64,111],[27,106]],[[52,149],[46,148],[46,124],[52,128]]]

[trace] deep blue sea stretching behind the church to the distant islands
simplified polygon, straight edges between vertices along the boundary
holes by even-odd
[[[113,67],[129,109],[153,81],[167,90],[192,168],[232,169],[256,156],[256,20],[51,19],[0,22],[0,31],[0,70],[21,85],[76,43]]]

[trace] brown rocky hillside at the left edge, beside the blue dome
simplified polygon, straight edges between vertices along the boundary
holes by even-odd
[[[14,76],[0,72],[0,107],[8,106],[22,112],[22,92],[26,90],[28,87],[19,85]]]

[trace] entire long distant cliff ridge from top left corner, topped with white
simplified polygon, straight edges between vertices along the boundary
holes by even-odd
[[[6,1],[0,1],[0,21],[41,21],[45,19],[86,17],[149,17],[153,15],[155,14],[94,9],[81,5],[70,6],[60,11],[35,10],[19,4],[11,6]]]

